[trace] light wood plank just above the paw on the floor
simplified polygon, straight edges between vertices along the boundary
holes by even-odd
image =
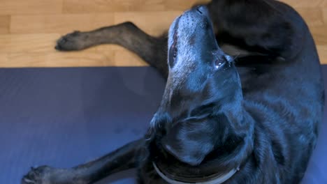
[[[24,24],[29,22],[29,24]],[[73,15],[13,15],[11,33],[68,33],[89,31],[114,23],[113,13]]]

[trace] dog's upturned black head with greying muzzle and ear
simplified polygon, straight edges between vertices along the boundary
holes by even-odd
[[[235,132],[242,91],[231,56],[219,48],[207,8],[188,10],[168,33],[169,75],[152,119],[162,148],[177,160],[198,165]]]

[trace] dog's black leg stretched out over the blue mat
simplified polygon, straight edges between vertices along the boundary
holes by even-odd
[[[56,169],[43,166],[32,168],[22,178],[22,184],[86,184],[106,176],[136,167],[146,157],[145,141],[140,139],[103,157],[71,169]]]

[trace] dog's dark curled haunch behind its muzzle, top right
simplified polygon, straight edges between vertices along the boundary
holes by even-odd
[[[272,0],[214,0],[208,4],[219,43],[249,52],[282,57],[296,56],[298,40],[310,34],[291,7]]]

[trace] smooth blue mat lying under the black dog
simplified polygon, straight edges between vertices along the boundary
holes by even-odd
[[[0,69],[0,183],[20,183],[31,166],[73,167],[142,137],[164,85],[149,67]],[[325,117],[305,184],[327,183]],[[98,184],[134,178],[130,170]]]

